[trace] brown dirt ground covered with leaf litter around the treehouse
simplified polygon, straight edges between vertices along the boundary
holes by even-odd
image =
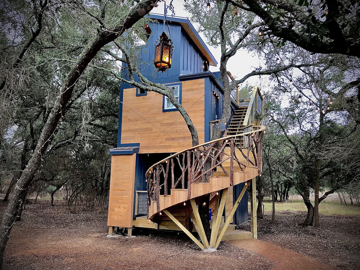
[[[1,212],[5,206],[0,203]],[[11,232],[3,269],[360,268],[360,216],[321,216],[321,229],[304,229],[296,226],[301,214],[283,212],[277,226],[266,216],[258,222],[262,241],[222,242],[218,252],[208,254],[183,233],[134,230],[135,238],[108,238],[105,212],[69,213],[61,203],[28,204]]]

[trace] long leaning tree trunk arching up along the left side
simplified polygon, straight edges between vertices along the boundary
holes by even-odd
[[[72,97],[74,87],[85,71],[88,64],[95,57],[98,51],[109,42],[121,36],[127,29],[148,14],[156,5],[157,0],[143,0],[136,4],[119,23],[109,30],[99,30],[96,37],[85,48],[84,52],[78,57],[76,64],[68,73],[60,89],[60,95],[54,101],[54,108],[50,112],[48,119],[43,127],[33,156],[23,170],[21,177],[17,181],[10,202],[4,213],[3,221],[0,227],[0,265],[3,264],[4,252],[8,243],[9,235],[13,227],[15,218],[21,205],[21,198],[27,193],[27,190],[33,180],[35,173],[41,165],[41,158],[45,156],[46,149],[53,141],[58,131],[60,118],[66,113],[68,102]]]

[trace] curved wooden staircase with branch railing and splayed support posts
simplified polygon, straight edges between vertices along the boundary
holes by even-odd
[[[162,226],[176,224],[203,250],[219,246],[250,181],[255,184],[255,177],[261,172],[265,127],[254,125],[254,113],[251,113],[257,104],[257,92],[256,87],[248,107],[235,111],[227,136],[185,149],[149,168],[146,173],[149,222]],[[244,188],[224,221],[222,213],[228,189],[240,183],[245,183]],[[211,194],[210,203],[215,210],[210,242],[198,212],[198,204],[207,194]],[[190,232],[192,224],[200,241]]]

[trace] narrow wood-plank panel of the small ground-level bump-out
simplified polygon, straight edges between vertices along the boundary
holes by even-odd
[[[108,226],[132,227],[136,154],[112,155]]]

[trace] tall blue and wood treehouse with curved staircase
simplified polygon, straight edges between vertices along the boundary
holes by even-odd
[[[133,227],[182,230],[201,249],[217,248],[221,240],[256,238],[255,189],[249,192],[252,231],[235,226],[248,221],[247,187],[255,186],[261,172],[265,127],[258,118],[260,90],[254,87],[250,100],[231,96],[230,120],[219,123],[224,90],[219,72],[208,71],[208,65],[217,65],[210,50],[188,19],[172,17],[171,68],[157,72],[153,52],[163,16],[150,18],[145,26],[148,39],[141,47],[141,62],[148,63],[141,66],[142,73],[172,89],[192,119],[200,144],[192,146],[183,117],[166,96],[122,84],[117,148],[110,150],[109,234],[114,227],[128,228],[128,236]],[[211,141],[217,125],[225,134]],[[209,194],[211,239],[198,212],[199,202]]]

